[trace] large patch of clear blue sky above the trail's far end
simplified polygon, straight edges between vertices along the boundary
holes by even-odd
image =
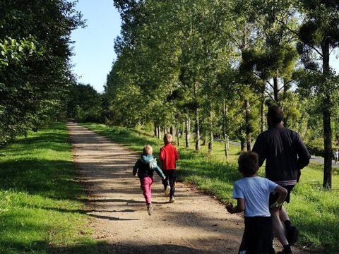
[[[72,63],[78,81],[103,92],[107,74],[116,59],[114,39],[120,34],[120,15],[113,0],[79,0],[76,10],[87,20],[86,28],[78,28],[71,35]]]

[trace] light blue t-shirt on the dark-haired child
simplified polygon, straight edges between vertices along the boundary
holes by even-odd
[[[245,217],[270,217],[268,199],[277,186],[278,184],[263,177],[244,177],[235,182],[232,198],[244,199]]]

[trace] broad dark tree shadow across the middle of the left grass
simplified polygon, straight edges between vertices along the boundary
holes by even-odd
[[[73,181],[74,173],[70,161],[10,159],[0,162],[0,189],[74,200],[83,193],[82,186]]]

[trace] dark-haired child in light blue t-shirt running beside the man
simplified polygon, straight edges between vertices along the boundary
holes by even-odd
[[[273,250],[273,227],[268,207],[270,193],[279,194],[278,200],[270,206],[279,209],[286,198],[285,188],[263,177],[256,176],[258,155],[244,152],[238,159],[239,172],[244,178],[236,181],[232,198],[237,199],[237,206],[227,203],[230,213],[243,212],[245,219],[244,244],[246,254],[267,254]]]

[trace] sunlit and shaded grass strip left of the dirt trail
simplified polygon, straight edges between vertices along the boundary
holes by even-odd
[[[62,123],[0,150],[0,253],[105,249],[105,243],[90,237],[90,217],[81,201],[85,193],[75,174]]]

